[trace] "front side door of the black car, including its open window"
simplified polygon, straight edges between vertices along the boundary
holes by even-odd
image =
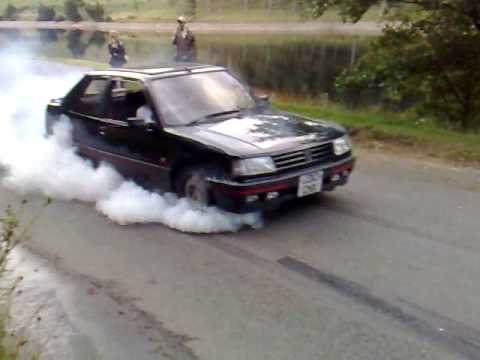
[[[153,109],[144,91],[138,80],[113,80],[108,95],[109,122],[104,125],[102,136],[112,153],[111,161],[125,176],[168,187],[168,146],[156,116],[153,115],[154,122],[149,126],[135,126],[138,121],[134,119],[141,105]]]

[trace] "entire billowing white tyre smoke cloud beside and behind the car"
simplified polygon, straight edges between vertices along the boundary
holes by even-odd
[[[111,220],[162,223],[191,233],[237,231],[261,225],[259,214],[236,215],[198,208],[173,194],[149,192],[125,181],[111,166],[92,164],[75,153],[68,120],[44,137],[46,104],[63,96],[81,77],[71,67],[29,61],[18,49],[0,52],[0,166],[2,184],[21,194],[40,193],[55,199],[81,200]]]

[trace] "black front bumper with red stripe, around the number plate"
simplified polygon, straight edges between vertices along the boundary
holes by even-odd
[[[269,210],[281,203],[298,198],[299,179],[323,171],[322,191],[331,191],[335,187],[345,185],[355,167],[355,158],[322,164],[285,175],[278,175],[250,182],[225,181],[208,179],[211,184],[215,205],[234,212],[248,213]]]

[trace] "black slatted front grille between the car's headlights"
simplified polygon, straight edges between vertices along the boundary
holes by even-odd
[[[333,143],[318,145],[312,148],[291,151],[288,153],[272,156],[277,171],[293,169],[309,164],[321,164],[333,161]]]

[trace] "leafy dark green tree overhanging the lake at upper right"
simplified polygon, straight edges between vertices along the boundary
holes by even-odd
[[[382,0],[304,0],[318,17],[331,7],[358,21]],[[471,0],[386,0],[391,21],[356,66],[337,81],[343,90],[383,89],[388,101],[414,99],[422,115],[480,128],[480,3]],[[402,9],[400,15],[391,16]]]

